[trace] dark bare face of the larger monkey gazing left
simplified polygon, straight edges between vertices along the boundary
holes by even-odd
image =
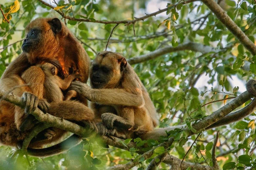
[[[32,29],[28,32],[26,39],[23,41],[22,50],[24,52],[31,52],[38,48],[40,42],[41,31],[39,29]]]

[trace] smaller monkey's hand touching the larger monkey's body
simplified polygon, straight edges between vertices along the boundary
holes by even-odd
[[[68,90],[75,90],[78,94],[87,98],[87,95],[90,94],[91,88],[85,83],[80,81],[74,81],[69,86]]]

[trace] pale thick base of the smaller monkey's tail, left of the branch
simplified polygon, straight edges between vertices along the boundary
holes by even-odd
[[[155,139],[158,140],[160,136],[167,136],[168,131],[174,130],[175,128],[183,129],[186,125],[179,125],[179,126],[173,126],[173,127],[167,127],[167,128],[156,128],[152,131],[148,131],[147,133],[141,134],[139,137],[142,140],[147,139]]]

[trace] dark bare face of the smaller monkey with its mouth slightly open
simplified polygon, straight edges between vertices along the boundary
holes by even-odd
[[[106,65],[93,63],[90,71],[90,81],[91,81],[92,88],[95,88],[95,89],[104,88],[112,77],[113,77],[112,68]]]

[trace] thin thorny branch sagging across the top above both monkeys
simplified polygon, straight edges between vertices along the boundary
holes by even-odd
[[[54,6],[44,2],[43,0],[38,0],[39,2],[41,2],[42,4],[54,9]],[[182,4],[187,4],[187,3],[191,3],[191,2],[195,2],[195,1],[198,1],[198,0],[187,0],[187,1],[182,1],[180,3]],[[176,3],[174,4],[172,7],[176,7],[177,5],[179,5],[180,3]],[[144,21],[145,19],[149,18],[149,17],[152,17],[152,16],[156,16],[158,14],[161,14],[165,11],[167,11],[168,8],[164,8],[164,9],[161,9],[159,11],[156,11],[154,13],[151,13],[151,14],[147,14],[143,17],[140,17],[140,18],[136,18],[134,20],[131,20],[131,21],[127,21],[127,20],[122,20],[122,21],[101,21],[101,20],[89,20],[89,19],[84,19],[84,18],[74,18],[74,17],[70,17],[70,16],[67,16],[65,15],[64,13],[62,13],[61,11],[59,10],[55,10],[56,12],[58,12],[63,18],[65,19],[68,19],[68,20],[71,20],[71,21],[79,21],[79,22],[92,22],[92,23],[101,23],[101,24],[125,24],[125,26],[129,26],[131,24],[135,24],[137,21]]]

